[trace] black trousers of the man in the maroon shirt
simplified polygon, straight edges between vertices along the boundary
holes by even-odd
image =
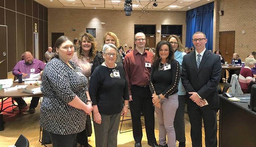
[[[149,87],[131,85],[130,101],[131,120],[133,124],[133,138],[136,143],[142,140],[141,112],[144,112],[145,127],[148,143],[156,143],[155,139],[155,116],[152,97]]]

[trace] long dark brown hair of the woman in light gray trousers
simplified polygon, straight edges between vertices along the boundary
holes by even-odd
[[[159,50],[163,45],[167,45],[169,47],[169,55],[166,58],[166,63],[170,63],[172,60],[174,60],[174,50],[172,49],[171,43],[165,40],[162,40],[157,43],[155,46],[155,55],[153,58],[153,66],[158,67],[159,63],[161,61],[160,55],[159,55]]]

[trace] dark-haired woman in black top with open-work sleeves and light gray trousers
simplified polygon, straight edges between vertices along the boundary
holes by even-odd
[[[159,123],[159,147],[167,147],[167,144],[168,147],[175,147],[173,122],[179,105],[180,65],[174,60],[174,51],[168,41],[158,42],[155,49],[149,86]]]

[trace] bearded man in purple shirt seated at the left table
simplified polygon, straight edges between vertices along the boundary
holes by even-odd
[[[34,59],[33,55],[29,51],[26,51],[24,53],[24,60],[19,61],[15,65],[12,70],[12,74],[18,77],[19,73],[21,73],[23,78],[29,78],[30,74],[38,74],[44,69],[44,67],[44,62]],[[40,97],[32,97],[31,104],[29,106],[30,113],[35,112],[39,99]],[[27,103],[21,97],[14,98],[14,100],[21,109],[27,106]]]

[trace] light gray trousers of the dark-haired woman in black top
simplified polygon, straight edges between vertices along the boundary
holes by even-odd
[[[166,135],[168,147],[176,147],[176,138],[174,130],[174,117],[179,106],[178,94],[164,98],[161,102],[161,108],[155,107],[159,123],[159,144],[166,144]]]

